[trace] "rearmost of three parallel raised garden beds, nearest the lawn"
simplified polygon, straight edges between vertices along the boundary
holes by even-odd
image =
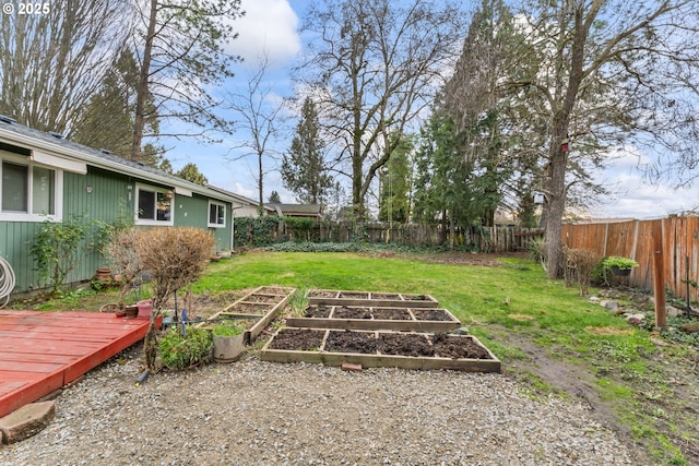
[[[437,308],[439,302],[429,295],[400,292],[343,291],[332,289],[309,289],[309,304],[363,306],[369,308]]]

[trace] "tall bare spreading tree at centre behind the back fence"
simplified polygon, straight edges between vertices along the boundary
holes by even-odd
[[[307,15],[311,58],[303,79],[322,96],[325,130],[348,165],[356,218],[379,168],[431,101],[461,43],[448,2],[327,0]],[[396,136],[399,135],[399,136]]]

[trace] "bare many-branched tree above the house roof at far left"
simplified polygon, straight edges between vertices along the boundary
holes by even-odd
[[[0,113],[69,133],[131,31],[121,0],[51,2],[0,15]]]

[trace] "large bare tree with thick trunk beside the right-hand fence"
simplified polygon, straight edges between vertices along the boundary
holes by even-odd
[[[671,153],[689,162],[684,168],[697,159],[699,3],[531,0],[519,17],[529,38],[513,63],[518,79],[502,85],[545,123],[548,274],[558,277],[576,169],[603,163],[621,142]]]

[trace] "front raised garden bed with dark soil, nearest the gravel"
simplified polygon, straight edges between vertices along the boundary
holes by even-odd
[[[286,327],[260,351],[276,362],[344,362],[403,369],[499,372],[500,361],[471,335],[335,331]]]

